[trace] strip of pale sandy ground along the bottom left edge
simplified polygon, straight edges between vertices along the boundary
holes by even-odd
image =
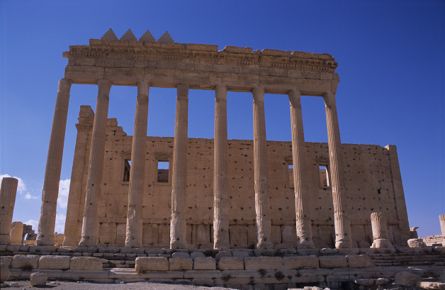
[[[23,281],[6,281],[9,287],[1,287],[1,289],[52,289],[52,290],[228,290],[224,287],[202,287],[193,285],[177,285],[177,284],[159,284],[149,282],[136,282],[125,284],[99,284],[89,282],[69,282],[69,281],[48,281],[46,286],[33,287],[30,286],[29,280]],[[235,289],[232,289],[235,290]]]

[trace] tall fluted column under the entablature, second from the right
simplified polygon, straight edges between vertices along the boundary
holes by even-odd
[[[305,177],[305,135],[301,113],[301,92],[289,91],[291,103],[293,187],[295,191],[295,218],[298,248],[313,248],[312,223],[310,221],[310,196]]]

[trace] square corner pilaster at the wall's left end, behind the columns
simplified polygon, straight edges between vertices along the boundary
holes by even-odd
[[[91,119],[86,123],[85,119]],[[84,167],[86,160],[86,150],[89,147],[89,134],[93,127],[94,111],[90,106],[81,106],[79,111],[79,123],[76,124],[77,138],[76,147],[74,148],[74,160],[72,163],[71,182],[69,182],[69,195],[67,206],[67,218],[65,219],[64,240],[63,245],[76,247],[79,245],[82,230],[82,218],[84,213],[85,201],[82,201],[82,184],[84,183]],[[87,144],[88,143],[88,144]]]

